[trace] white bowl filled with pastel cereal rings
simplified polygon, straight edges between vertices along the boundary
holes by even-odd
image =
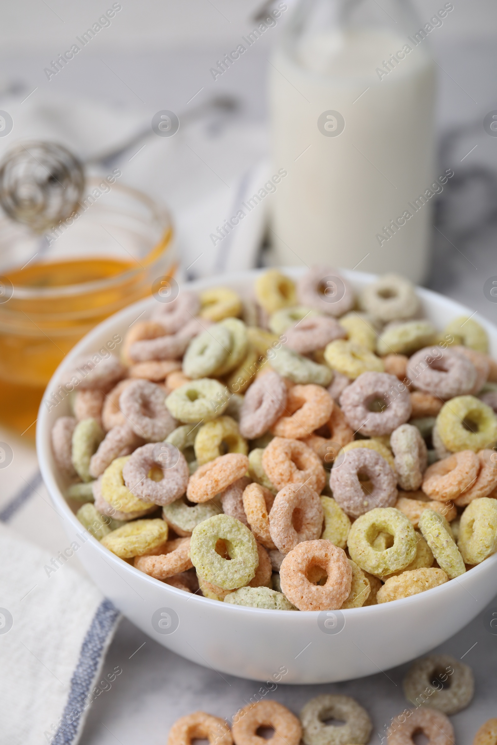
[[[291,683],[387,670],[481,612],[497,329],[328,267],[157,288],[66,355],[39,410],[45,484],[104,595],[200,665]]]

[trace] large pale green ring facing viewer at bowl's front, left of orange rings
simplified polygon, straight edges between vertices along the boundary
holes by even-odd
[[[229,559],[216,552],[224,541]],[[200,577],[224,590],[247,585],[259,565],[256,539],[248,527],[229,515],[209,517],[191,533],[190,558]]]

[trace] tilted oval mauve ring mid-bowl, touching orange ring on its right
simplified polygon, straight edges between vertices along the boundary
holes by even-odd
[[[282,416],[285,411],[287,387],[278,373],[261,375],[247,389],[240,413],[240,433],[255,440]]]

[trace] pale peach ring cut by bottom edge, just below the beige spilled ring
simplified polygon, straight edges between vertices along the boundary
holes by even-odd
[[[428,571],[434,572],[440,569]],[[411,745],[414,743],[413,735],[421,732],[427,738],[428,745],[454,745],[455,743],[454,729],[445,714],[436,709],[417,708],[414,711],[402,712],[393,720],[392,726],[387,731],[388,745]]]

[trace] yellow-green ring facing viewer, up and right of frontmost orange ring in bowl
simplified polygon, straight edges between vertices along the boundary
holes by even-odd
[[[390,533],[393,545],[376,551],[373,542],[379,533]],[[394,507],[376,507],[358,517],[350,528],[347,546],[352,561],[361,569],[383,577],[405,569],[416,556],[416,533],[411,521]]]

